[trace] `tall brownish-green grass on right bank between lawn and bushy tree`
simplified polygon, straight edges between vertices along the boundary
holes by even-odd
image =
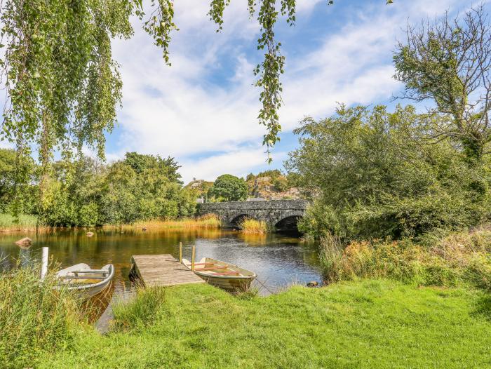
[[[329,282],[388,277],[419,286],[491,290],[490,252],[487,229],[428,235],[424,243],[363,241],[344,246],[332,236],[321,240],[321,261]]]

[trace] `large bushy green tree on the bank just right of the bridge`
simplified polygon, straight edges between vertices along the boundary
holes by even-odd
[[[307,118],[295,130],[300,148],[286,168],[311,189],[314,206],[300,228],[344,239],[419,237],[434,229],[473,227],[490,215],[491,181],[484,166],[469,166],[432,134],[415,108],[339,107]]]

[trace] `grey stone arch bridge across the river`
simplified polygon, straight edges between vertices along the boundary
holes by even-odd
[[[230,201],[224,203],[202,203],[201,215],[213,213],[220,217],[228,227],[239,227],[245,218],[264,220],[269,227],[278,231],[297,229],[297,221],[307,209],[306,200],[272,200],[272,201]]]

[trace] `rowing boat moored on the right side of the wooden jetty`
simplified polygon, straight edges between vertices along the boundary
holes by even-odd
[[[182,264],[191,269],[189,260],[182,259]],[[240,291],[248,290],[250,283],[257,277],[253,271],[210,257],[203,257],[199,262],[195,262],[194,273],[213,286]]]

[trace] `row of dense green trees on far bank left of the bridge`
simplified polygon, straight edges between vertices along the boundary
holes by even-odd
[[[4,157],[7,159],[4,160]],[[0,168],[15,168],[15,152],[0,150]],[[65,161],[53,164],[46,180],[41,221],[51,226],[95,226],[132,223],[154,218],[175,218],[194,215],[196,192],[182,188],[173,158],[142,155],[135,152],[109,166],[82,156],[74,165]],[[32,170],[34,164],[32,163]],[[11,172],[15,171],[11,170]],[[7,187],[13,173],[6,170],[2,183]],[[10,174],[9,174],[10,173]],[[34,175],[34,174],[33,174]],[[36,177],[22,189],[23,213],[39,213]],[[4,187],[2,187],[2,194]],[[13,197],[0,198],[0,210],[13,206]],[[30,196],[27,196],[30,195]]]

